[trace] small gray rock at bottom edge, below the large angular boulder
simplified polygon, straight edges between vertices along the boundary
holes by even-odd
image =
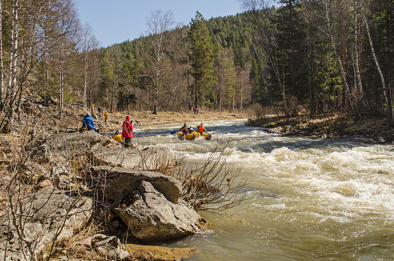
[[[104,254],[108,259],[121,260],[129,255],[117,237],[95,234],[91,246],[98,254]]]

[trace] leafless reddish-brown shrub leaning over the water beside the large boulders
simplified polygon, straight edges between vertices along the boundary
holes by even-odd
[[[249,182],[241,166],[230,165],[228,157],[234,144],[218,140],[204,163],[178,168],[173,176],[182,182],[182,199],[196,210],[223,211],[240,204],[245,198],[242,189]]]

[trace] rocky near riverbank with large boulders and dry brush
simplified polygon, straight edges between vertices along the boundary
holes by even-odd
[[[84,259],[71,251],[80,245],[95,252],[95,259],[120,260],[142,251],[123,243],[173,240],[199,233],[208,224],[180,199],[180,181],[153,171],[175,164],[175,156],[160,148],[123,148],[95,131],[74,130],[38,135],[27,143],[3,137],[1,144],[0,255],[6,260]],[[97,229],[80,238],[83,243],[58,244],[89,224]],[[147,255],[158,251],[143,249]],[[155,260],[195,252],[161,251],[165,258],[153,254]]]

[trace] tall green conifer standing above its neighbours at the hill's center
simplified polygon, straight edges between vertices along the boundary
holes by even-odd
[[[194,78],[194,106],[198,106],[198,95],[203,87],[209,87],[213,82],[213,58],[212,58],[212,40],[206,26],[206,20],[203,15],[196,12],[195,18],[191,19],[189,54],[192,72]]]

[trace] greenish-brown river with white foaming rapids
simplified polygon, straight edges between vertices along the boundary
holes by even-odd
[[[282,137],[245,120],[204,122],[211,141],[169,134],[182,123],[134,128],[134,140],[168,146],[188,163],[232,139],[227,162],[250,181],[242,191],[250,200],[221,215],[201,211],[212,227],[164,246],[197,248],[187,260],[394,260],[393,145]]]

